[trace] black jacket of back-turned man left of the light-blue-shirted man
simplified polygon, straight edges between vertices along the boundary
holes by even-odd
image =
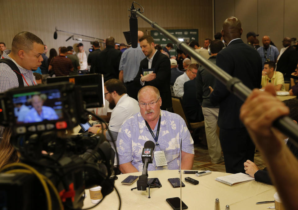
[[[97,69],[94,69],[94,73],[103,74],[104,82],[112,78],[118,79],[121,55],[122,52],[114,46],[106,46],[106,49],[98,53]]]

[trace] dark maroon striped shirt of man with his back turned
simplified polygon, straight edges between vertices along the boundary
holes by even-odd
[[[72,61],[65,56],[56,56],[50,62],[53,66],[56,77],[68,76],[70,74],[70,69],[73,68]]]

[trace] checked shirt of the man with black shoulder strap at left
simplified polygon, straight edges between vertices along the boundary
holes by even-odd
[[[2,54],[3,58],[8,58],[10,60],[11,57],[8,54],[11,53],[11,50],[5,50]],[[32,73],[32,70],[24,69],[20,65],[16,63],[15,60],[12,60],[20,70],[20,73],[23,75],[24,86],[33,86],[36,83],[35,76]],[[6,92],[9,89],[19,87],[18,78],[16,73],[4,63],[0,63],[0,93]],[[3,126],[0,126],[0,139],[2,138],[2,132],[4,130]]]

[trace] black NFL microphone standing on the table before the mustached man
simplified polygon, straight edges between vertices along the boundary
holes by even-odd
[[[153,150],[155,144],[153,141],[146,141],[144,144],[143,152],[142,152],[142,162],[144,163],[142,175],[139,176],[137,181],[137,189],[145,191],[147,188],[148,182],[148,164],[152,163],[153,160]]]

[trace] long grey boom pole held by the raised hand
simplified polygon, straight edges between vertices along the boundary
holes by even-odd
[[[142,6],[141,6],[142,7]],[[196,51],[189,47],[185,42],[181,42],[174,35],[170,34],[167,30],[160,27],[156,22],[149,20],[146,16],[142,15],[144,11],[140,12],[138,8],[134,10],[129,10],[131,13],[135,13],[136,16],[142,18],[147,23],[151,25],[152,28],[155,28],[161,32],[165,37],[169,38],[174,44],[178,46],[179,49],[186,52],[188,55],[193,57],[198,63],[204,66],[210,74],[217,78],[221,83],[226,85],[227,89],[236,95],[242,101],[245,101],[246,98],[250,95],[251,89],[245,86],[241,80],[236,77],[232,77],[224,70],[211,63],[209,60],[206,60],[200,56]],[[273,126],[276,127],[279,131],[286,134],[296,147],[298,147],[298,125],[295,124],[292,119],[288,116],[283,116],[278,118],[273,122]]]

